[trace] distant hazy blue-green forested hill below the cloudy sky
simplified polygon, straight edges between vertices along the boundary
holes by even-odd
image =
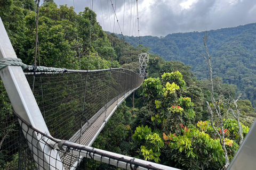
[[[235,84],[237,93],[249,99],[256,107],[256,23],[207,31],[207,46],[212,54],[214,77],[225,83]],[[199,53],[205,52],[205,32],[173,33],[165,37],[143,36],[140,42],[149,47],[149,53],[158,54],[166,61],[181,61],[192,66],[197,79],[206,79],[209,71]],[[125,36],[133,46],[138,37]]]

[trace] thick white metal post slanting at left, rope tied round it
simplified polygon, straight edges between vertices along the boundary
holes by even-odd
[[[0,59],[8,57],[17,58],[0,18]],[[0,70],[0,76],[14,111],[39,131],[50,134],[21,67],[6,66]],[[56,166],[57,169],[64,169],[58,152],[44,145],[41,135],[30,130],[28,133],[30,135],[25,135],[25,137],[29,141],[30,150],[33,150],[38,169],[53,169],[50,165]]]

